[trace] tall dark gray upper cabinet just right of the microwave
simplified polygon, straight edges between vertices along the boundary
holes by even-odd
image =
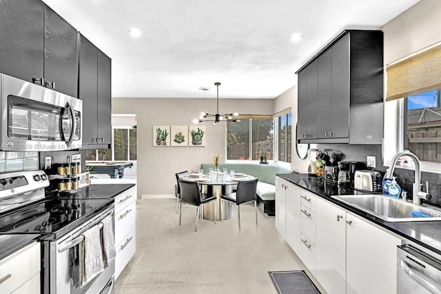
[[[83,100],[83,143],[107,148],[112,140],[111,60],[79,34],[79,98]]]

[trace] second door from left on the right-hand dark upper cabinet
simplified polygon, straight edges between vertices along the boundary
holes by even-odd
[[[313,61],[307,67],[307,138],[317,138],[317,61]]]

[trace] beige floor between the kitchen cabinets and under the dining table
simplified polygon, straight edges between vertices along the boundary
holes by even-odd
[[[176,200],[136,204],[136,253],[116,280],[116,294],[276,293],[267,271],[304,269],[274,227],[274,217],[254,205],[237,207],[223,223],[199,220],[196,207],[183,207],[178,226]]]

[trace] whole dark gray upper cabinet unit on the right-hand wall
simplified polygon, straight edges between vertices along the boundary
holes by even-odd
[[[382,31],[345,30],[296,73],[299,143],[381,144]]]

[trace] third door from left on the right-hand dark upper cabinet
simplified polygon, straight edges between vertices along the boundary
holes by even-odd
[[[317,138],[331,136],[331,50],[323,52],[317,59],[318,63],[318,87],[317,87]]]

